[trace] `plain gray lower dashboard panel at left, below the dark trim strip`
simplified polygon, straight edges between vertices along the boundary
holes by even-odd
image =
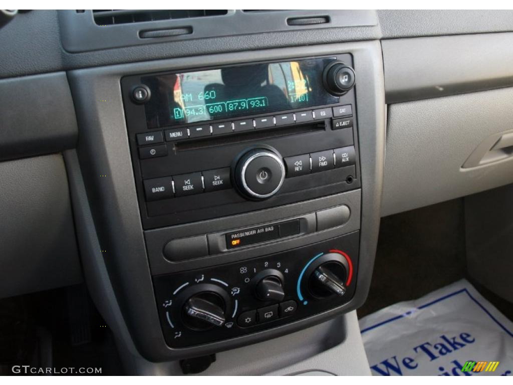
[[[0,298],[82,282],[61,154],[0,162]]]

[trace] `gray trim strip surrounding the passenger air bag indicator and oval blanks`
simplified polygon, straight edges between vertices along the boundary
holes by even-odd
[[[242,261],[244,259],[274,254],[354,232],[360,227],[360,197],[361,190],[356,189],[329,197],[312,199],[307,202],[292,203],[231,217],[221,217],[208,221],[147,230],[145,232],[145,238],[147,241],[151,272],[153,275],[174,273],[188,269],[215,266],[221,263]],[[166,260],[163,255],[163,247],[168,241],[192,235],[208,233],[209,248],[210,253],[212,253],[216,249],[226,249],[223,235],[230,230],[259,226],[273,221],[283,222],[295,217],[304,217],[305,214],[310,214],[313,217],[313,226],[315,226],[315,210],[341,204],[347,204],[352,210],[349,221],[343,226],[333,227],[322,232],[315,232],[315,228],[313,228],[312,233],[300,237],[291,237],[289,239],[266,244],[252,245],[250,248],[235,249],[227,253],[203,256],[205,258],[197,258],[189,261],[170,262]],[[215,240],[221,241],[223,245],[214,244]]]

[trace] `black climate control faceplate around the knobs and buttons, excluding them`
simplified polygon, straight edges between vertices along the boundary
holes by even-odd
[[[293,323],[349,302],[356,290],[359,240],[359,232],[354,232],[284,253],[208,269],[153,277],[160,321],[167,344],[173,348],[184,348],[239,337]],[[333,249],[342,251],[349,257],[351,267],[345,280],[347,292],[342,297],[331,295],[322,299],[313,298],[308,294],[306,287],[307,267],[311,261]],[[285,297],[279,302],[255,298],[253,277],[268,269],[278,270],[284,276]],[[192,331],[184,325],[183,305],[193,293],[203,288],[226,292],[230,298],[230,302],[226,304],[226,323],[223,326],[213,326],[206,331]],[[271,321],[266,321],[261,314],[260,318],[257,316],[258,321],[254,325],[244,327],[238,322],[239,316],[247,311],[287,301],[294,301],[297,304],[297,310],[290,316],[282,310],[278,311],[279,318],[274,318],[273,314]],[[241,324],[244,325],[243,321]]]

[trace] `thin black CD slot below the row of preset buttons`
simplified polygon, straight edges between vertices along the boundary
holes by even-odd
[[[311,122],[306,124],[295,124],[293,126],[284,126],[280,128],[274,127],[272,129],[255,129],[253,131],[235,132],[218,137],[205,137],[177,141],[174,144],[174,149],[176,151],[195,150],[199,148],[216,147],[228,144],[250,142],[254,140],[297,135],[301,133],[324,131],[325,129],[325,121]]]

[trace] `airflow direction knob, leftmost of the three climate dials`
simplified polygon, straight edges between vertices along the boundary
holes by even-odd
[[[217,293],[200,292],[190,297],[183,308],[184,323],[193,330],[207,330],[225,323],[226,303]]]

